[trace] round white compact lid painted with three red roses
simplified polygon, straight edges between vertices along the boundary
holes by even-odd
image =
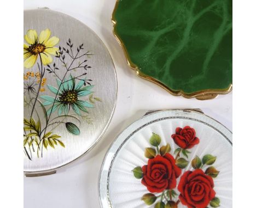
[[[131,124],[102,164],[102,207],[232,207],[232,133],[190,110]]]

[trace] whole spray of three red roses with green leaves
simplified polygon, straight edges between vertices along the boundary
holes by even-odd
[[[148,158],[147,164],[142,167],[137,166],[132,170],[133,176],[141,179],[141,183],[149,191],[141,198],[145,204],[155,204],[154,207],[160,208],[177,208],[179,203],[188,208],[220,206],[220,199],[215,196],[216,192],[213,189],[213,179],[219,174],[219,171],[212,166],[217,156],[206,154],[200,158],[196,155],[193,160],[190,160],[194,170],[188,170],[181,175],[182,169],[189,165],[187,159],[191,152],[186,148],[192,148],[199,143],[195,135],[195,130],[189,126],[183,129],[177,127],[176,134],[172,134],[172,137],[174,137],[174,142],[176,139],[179,147],[171,154],[171,145],[169,143],[160,145],[161,137],[152,133],[149,139],[152,146],[144,151],[144,156]],[[205,170],[202,169],[203,167]],[[178,186],[177,180],[179,180]],[[176,188],[179,193],[176,193]]]

